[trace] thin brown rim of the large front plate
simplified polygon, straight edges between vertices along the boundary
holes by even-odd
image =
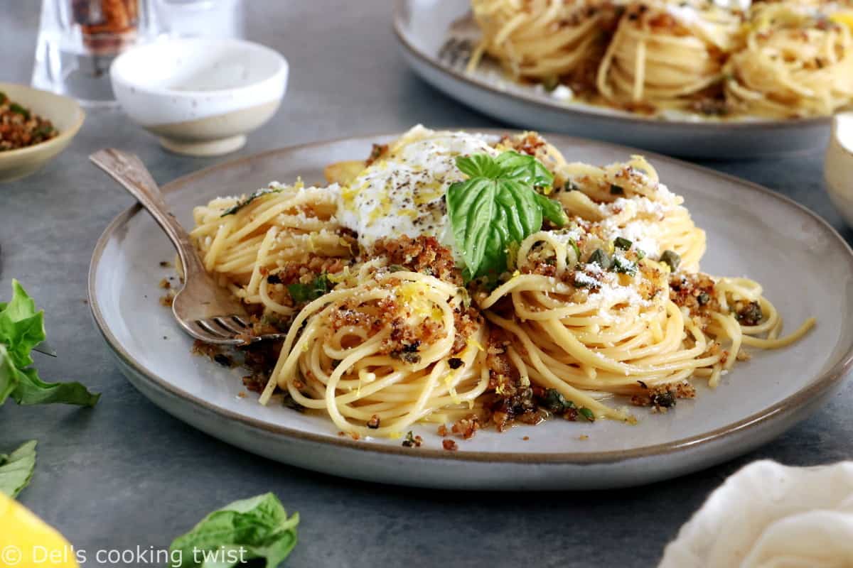
[[[486,129],[480,127],[458,126],[446,128],[458,130],[475,130],[477,132],[490,135],[505,135],[520,132],[519,129],[513,128]],[[365,143],[370,143],[371,141],[375,141],[380,138],[399,136],[402,134],[403,133],[389,134],[387,132],[383,132],[368,135],[344,136],[324,141],[309,142],[293,146],[283,146],[281,148],[276,148],[265,152],[258,152],[249,156],[228,160],[223,164],[215,164],[207,168],[196,170],[187,175],[179,176],[176,179],[162,186],[161,190],[164,193],[182,191],[182,188],[184,188],[189,182],[193,181],[196,177],[210,175],[218,171],[219,169],[231,169],[239,167],[241,164],[247,164],[248,162],[251,162],[252,160],[256,160],[258,158],[266,158],[268,156],[276,154],[287,155],[293,152],[301,152],[313,148],[320,148],[322,146],[330,146],[343,142],[364,141]],[[783,205],[793,207],[793,209],[798,209],[799,214],[806,215],[812,220],[817,221],[817,225],[819,227],[822,227],[823,230],[827,232],[827,237],[830,238],[831,242],[834,242],[836,245],[841,245],[841,250],[844,253],[844,258],[850,266],[850,271],[853,272],[853,249],[851,249],[850,244],[848,244],[844,240],[844,238],[838,233],[838,231],[836,231],[832,225],[830,225],[825,219],[823,219],[820,215],[817,215],[811,209],[805,207],[803,204],[799,204],[792,198],[788,198],[785,195],[774,192],[768,187],[761,186],[752,181],[744,180],[735,175],[726,174],[715,169],[705,168],[703,166],[691,164],[683,160],[670,158],[655,152],[642,151],[636,148],[631,148],[629,146],[621,146],[608,142],[593,141],[577,136],[563,135],[559,133],[542,133],[542,135],[546,139],[558,141],[558,144],[571,143],[575,145],[584,146],[603,146],[610,150],[624,152],[627,155],[641,153],[652,163],[667,162],[670,165],[674,165],[677,167],[692,169],[700,175],[717,177],[722,181],[727,181],[728,183],[734,183],[738,186],[741,186],[741,188],[744,190],[761,193],[766,198],[775,199]],[[155,387],[160,387],[161,389],[165,390],[166,393],[169,393],[179,399],[183,399],[184,402],[188,402],[194,407],[200,408],[200,410],[212,411],[218,416],[222,416],[224,419],[240,422],[243,426],[255,427],[260,430],[263,430],[266,433],[282,435],[287,438],[298,439],[302,442],[321,445],[334,445],[350,450],[360,450],[392,456],[404,456],[406,458],[418,458],[423,460],[440,459],[451,460],[454,462],[529,463],[563,465],[628,462],[633,459],[666,456],[674,454],[676,452],[692,449],[697,446],[711,445],[723,439],[731,439],[735,435],[743,433],[746,430],[754,430],[757,427],[767,425],[771,423],[775,417],[790,414],[793,411],[798,410],[800,407],[808,404],[809,402],[820,398],[821,394],[827,393],[827,391],[829,391],[831,388],[843,382],[844,378],[850,373],[851,370],[853,370],[853,342],[851,342],[850,347],[848,347],[847,351],[839,358],[838,362],[834,364],[831,369],[821,374],[821,376],[818,376],[815,381],[809,384],[808,386],[800,388],[798,391],[787,396],[785,399],[782,399],[779,402],[772,404],[763,410],[759,410],[751,414],[750,416],[741,418],[739,421],[729,423],[722,427],[718,427],[709,432],[699,433],[688,438],[676,439],[664,444],[646,445],[641,447],[630,448],[627,450],[542,453],[482,450],[449,452],[446,450],[421,448],[412,451],[408,448],[403,448],[402,446],[397,445],[380,445],[365,440],[353,440],[349,437],[331,437],[319,433],[305,432],[303,430],[299,430],[293,427],[271,424],[270,422],[265,422],[261,419],[254,418],[252,416],[243,416],[233,410],[224,409],[216,404],[208,402],[206,399],[202,399],[198,396],[195,396],[194,394],[187,393],[181,388],[173,385],[164,377],[159,376],[156,373],[148,370],[144,365],[136,361],[136,359],[133,358],[131,353],[128,353],[124,349],[124,347],[120,345],[118,339],[109,329],[106,319],[103,316],[95,292],[96,273],[97,267],[100,265],[100,262],[102,260],[103,252],[107,247],[107,243],[113,238],[114,234],[119,230],[120,227],[125,226],[128,221],[131,221],[131,219],[135,215],[138,215],[140,212],[142,212],[142,206],[140,204],[133,204],[131,205],[131,207],[121,211],[119,215],[116,215],[113,218],[113,221],[110,221],[107,227],[103,230],[101,236],[97,240],[94,250],[92,251],[92,257],[90,260],[89,273],[87,278],[87,295],[89,299],[89,307],[92,313],[92,318],[94,319],[96,327],[104,338],[104,341],[107,342],[107,346],[110,348],[110,350],[115,356],[119,357],[119,359],[121,359],[121,361],[126,364],[130,369],[134,370],[137,376],[144,378],[148,382],[154,383]],[[181,420],[182,422],[185,422],[183,421],[183,419]]]

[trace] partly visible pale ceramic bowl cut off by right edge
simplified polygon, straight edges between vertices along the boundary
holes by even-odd
[[[833,118],[833,135],[823,169],[829,198],[853,227],[853,112],[839,112]]]

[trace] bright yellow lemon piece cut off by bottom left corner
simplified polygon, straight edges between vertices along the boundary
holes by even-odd
[[[0,566],[79,568],[71,544],[53,527],[2,491]]]

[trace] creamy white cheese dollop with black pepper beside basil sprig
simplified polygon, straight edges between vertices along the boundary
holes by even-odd
[[[409,130],[389,156],[371,164],[349,186],[341,188],[338,220],[357,232],[370,250],[379,238],[435,236],[453,244],[444,194],[466,176],[456,157],[473,153],[497,155],[496,140],[465,132],[436,132],[421,125]],[[453,247],[451,246],[451,249]]]

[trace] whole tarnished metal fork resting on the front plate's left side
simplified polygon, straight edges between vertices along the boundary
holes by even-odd
[[[247,334],[252,324],[246,308],[206,272],[189,234],[169,212],[160,188],[142,160],[114,148],[99,150],[89,159],[131,192],[175,245],[183,266],[183,288],[172,299],[171,311],[181,329],[195,339],[214,345],[245,345],[284,337],[284,334]]]

